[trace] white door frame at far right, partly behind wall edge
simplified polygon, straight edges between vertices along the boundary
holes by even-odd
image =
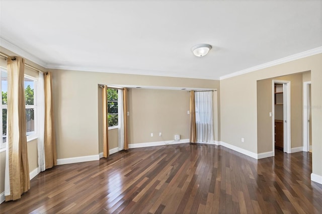
[[[309,126],[308,126],[308,85],[311,81],[303,82],[303,151],[309,151]],[[311,95],[311,94],[310,94]],[[310,123],[312,123],[310,121]]]

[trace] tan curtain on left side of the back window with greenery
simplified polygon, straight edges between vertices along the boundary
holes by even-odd
[[[109,156],[109,121],[107,118],[107,86],[102,87],[102,110],[103,110],[103,156],[107,158]]]

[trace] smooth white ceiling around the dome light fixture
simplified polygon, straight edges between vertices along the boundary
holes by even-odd
[[[322,46],[320,0],[0,4],[0,45],[47,68],[219,79]]]

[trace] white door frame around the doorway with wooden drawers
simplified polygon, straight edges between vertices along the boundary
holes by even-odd
[[[272,80],[272,146],[275,156],[275,83],[283,84],[283,138],[284,152],[291,153],[291,81]]]

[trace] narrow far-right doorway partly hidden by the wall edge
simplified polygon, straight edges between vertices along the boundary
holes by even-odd
[[[312,152],[311,81],[303,82],[303,151]]]

